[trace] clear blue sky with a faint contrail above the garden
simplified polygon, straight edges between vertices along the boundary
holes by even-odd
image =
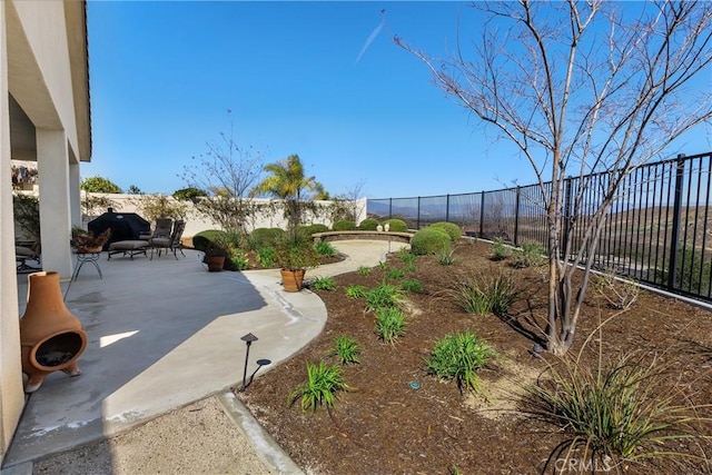
[[[359,58],[382,9],[386,26]],[[359,181],[385,198],[534,180],[392,40],[441,55],[468,3],[89,1],[87,11],[93,154],[82,178],[172,194],[234,122],[240,145],[267,161],[298,154],[332,195]]]

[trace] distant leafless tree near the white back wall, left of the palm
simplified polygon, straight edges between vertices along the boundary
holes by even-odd
[[[196,199],[198,212],[226,230],[246,232],[255,212],[248,194],[259,181],[265,155],[253,146],[238,145],[233,122],[228,133],[220,132],[220,140],[207,146],[206,154],[194,157],[195,162],[184,167],[181,178],[188,187],[207,195]]]

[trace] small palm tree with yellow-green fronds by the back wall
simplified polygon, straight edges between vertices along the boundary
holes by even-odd
[[[267,164],[263,170],[269,174],[253,189],[254,195],[270,195],[285,202],[285,217],[289,230],[295,230],[301,221],[304,201],[314,196],[328,196],[324,186],[314,176],[304,176],[304,166],[298,155]],[[309,192],[314,195],[309,195]]]

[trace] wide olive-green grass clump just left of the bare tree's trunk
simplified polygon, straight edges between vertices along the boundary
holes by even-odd
[[[507,314],[510,306],[518,298],[520,289],[512,274],[483,271],[479,276],[456,284],[449,290],[449,295],[468,314],[493,313],[502,317]]]

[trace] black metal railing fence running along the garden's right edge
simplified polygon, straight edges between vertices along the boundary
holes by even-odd
[[[595,266],[712,301],[711,174],[712,152],[708,152],[647,164],[629,175],[606,215]],[[581,225],[600,207],[601,190],[611,179],[604,172],[565,180],[563,212],[566,218],[575,217],[565,222],[576,225],[563,232],[573,232],[574,245],[581,241]],[[451,221],[467,236],[546,247],[543,192],[550,189],[551,184],[545,184],[544,191],[540,185],[528,185],[463,195],[368,199],[367,214],[400,218],[413,229]],[[582,199],[575,202],[578,189]]]

